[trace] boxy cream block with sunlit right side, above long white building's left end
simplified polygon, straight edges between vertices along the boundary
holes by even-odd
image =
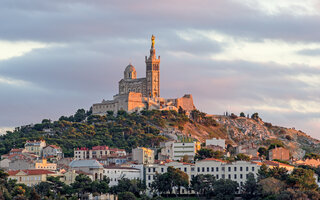
[[[137,147],[132,150],[132,160],[138,164],[154,163],[154,151],[145,147]]]

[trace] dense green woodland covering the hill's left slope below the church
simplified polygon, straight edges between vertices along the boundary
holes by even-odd
[[[73,156],[73,148],[108,145],[131,151],[137,146],[153,147],[166,138],[159,129],[170,124],[179,127],[188,122],[188,117],[176,111],[142,111],[128,114],[119,111],[115,116],[91,115],[91,111],[79,109],[75,115],[62,116],[58,121],[42,120],[34,126],[23,126],[0,136],[0,154],[12,148],[23,147],[26,140],[44,139],[48,144],[62,147],[65,156]],[[49,130],[48,131],[46,131]]]

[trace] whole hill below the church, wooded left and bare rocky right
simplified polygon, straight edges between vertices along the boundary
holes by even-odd
[[[36,139],[61,146],[66,156],[72,156],[73,148],[82,146],[108,145],[131,151],[137,146],[158,146],[174,135],[192,136],[201,142],[223,138],[230,145],[268,146],[281,142],[296,158],[302,157],[304,151],[320,152],[319,140],[295,129],[263,122],[257,113],[247,118],[234,114],[207,115],[194,110],[188,118],[183,110],[145,110],[131,114],[119,111],[117,115],[108,112],[99,116],[79,109],[70,117],[62,116],[58,121],[44,119],[0,136],[0,153],[8,153],[11,148],[23,147],[26,140]]]

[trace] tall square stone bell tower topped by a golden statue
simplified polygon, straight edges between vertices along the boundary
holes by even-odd
[[[156,57],[156,49],[154,48],[155,37],[151,37],[151,49],[149,58],[146,56],[146,78],[148,97],[160,97],[160,56]]]

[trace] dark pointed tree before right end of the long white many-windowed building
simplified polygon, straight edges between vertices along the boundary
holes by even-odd
[[[258,185],[253,173],[248,174],[248,178],[242,189],[244,199],[255,199],[259,197],[261,188],[260,185]]]

